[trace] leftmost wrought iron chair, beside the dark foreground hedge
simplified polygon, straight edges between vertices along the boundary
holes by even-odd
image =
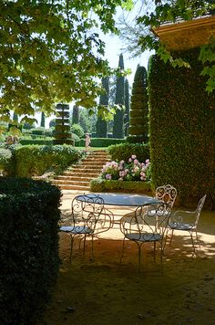
[[[93,241],[96,236],[106,232],[113,226],[113,214],[104,206],[104,200],[97,194],[77,195],[72,201],[71,225],[60,226],[60,231],[71,237],[70,263],[75,236],[84,241],[85,254],[87,236],[91,237],[92,257],[94,257]]]

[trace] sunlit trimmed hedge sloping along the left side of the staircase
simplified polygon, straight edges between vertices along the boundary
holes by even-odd
[[[54,171],[61,173],[77,163],[84,152],[71,145],[25,145],[15,150],[15,175],[32,177]]]

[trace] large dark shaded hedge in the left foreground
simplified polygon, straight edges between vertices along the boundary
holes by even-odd
[[[0,179],[0,323],[41,319],[58,274],[59,189]]]

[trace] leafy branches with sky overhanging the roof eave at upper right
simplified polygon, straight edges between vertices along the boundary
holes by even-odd
[[[162,24],[189,21],[201,16],[214,15],[214,0],[142,0],[137,2],[136,16],[132,23],[128,16],[121,19],[119,25],[121,37],[125,40],[129,52],[139,55],[145,50],[155,50],[165,62],[169,61],[174,67],[188,67],[189,64],[181,58],[174,58],[172,53],[162,44],[153,32]],[[215,37],[210,43],[200,49],[200,60],[205,65],[202,75],[208,75],[206,89],[215,89]]]

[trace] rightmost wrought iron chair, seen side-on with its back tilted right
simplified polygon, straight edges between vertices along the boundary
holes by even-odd
[[[191,236],[191,243],[193,246],[194,254],[196,253],[194,240],[193,240],[193,233],[196,234],[197,242],[199,243],[198,235],[197,235],[197,227],[200,220],[200,213],[206,200],[206,196],[207,195],[205,194],[200,199],[195,211],[176,211],[175,214],[171,216],[169,220],[169,229],[171,230],[169,246],[171,245],[172,242],[174,230],[188,231]]]

